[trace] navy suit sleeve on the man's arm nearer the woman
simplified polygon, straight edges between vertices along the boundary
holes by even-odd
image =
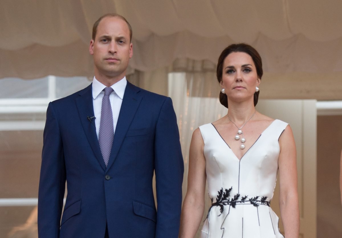
[[[156,237],[178,237],[184,162],[171,98],[161,107],[155,133]]]

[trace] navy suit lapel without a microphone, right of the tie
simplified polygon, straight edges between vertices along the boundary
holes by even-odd
[[[119,153],[123,139],[126,136],[127,130],[131,125],[136,110],[139,107],[139,104],[142,99],[142,97],[139,96],[139,91],[140,89],[138,87],[135,87],[127,81],[127,86],[125,89],[125,93],[123,95],[122,104],[120,108],[118,123],[115,129],[113,146],[111,148],[107,170],[114,163]]]

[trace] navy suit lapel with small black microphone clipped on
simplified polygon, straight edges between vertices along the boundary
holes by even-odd
[[[76,98],[76,105],[84,133],[87,136],[90,147],[92,148],[98,163],[100,163],[103,170],[106,170],[106,165],[103,161],[96,135],[95,120],[92,119],[92,122],[90,122],[88,119],[88,117],[94,116],[92,86],[89,85],[78,94],[80,97]]]

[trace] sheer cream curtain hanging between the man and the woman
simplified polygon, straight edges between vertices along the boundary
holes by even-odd
[[[206,66],[203,61],[183,61],[183,63],[195,66],[192,68],[196,71],[170,73],[168,92],[173,101],[180,131],[184,158],[184,199],[187,190],[189,147],[193,131],[200,125],[218,120],[227,113],[227,109],[219,102],[218,96],[221,88],[213,68],[203,67]],[[211,205],[207,188],[203,196],[205,196],[206,206],[202,221],[205,220]],[[202,225],[203,222],[196,237],[200,237]]]

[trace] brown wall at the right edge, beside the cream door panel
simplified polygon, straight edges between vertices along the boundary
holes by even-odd
[[[342,237],[342,116],[317,117],[317,237]]]

